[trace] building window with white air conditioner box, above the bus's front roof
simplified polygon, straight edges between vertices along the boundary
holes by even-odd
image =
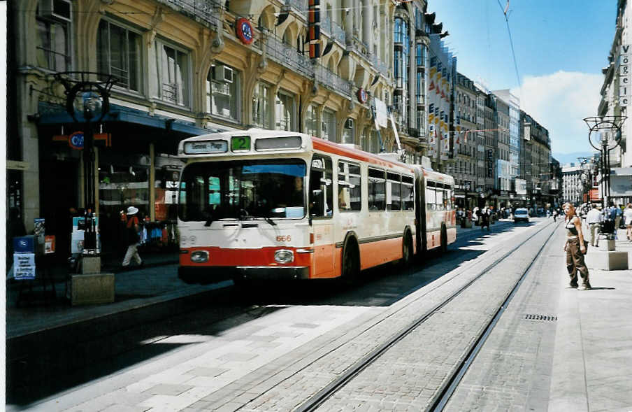
[[[212,115],[239,122],[238,101],[239,76],[235,69],[221,63],[213,64],[206,76],[206,110]]]

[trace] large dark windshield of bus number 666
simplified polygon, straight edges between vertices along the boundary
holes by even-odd
[[[306,164],[301,159],[196,162],[182,171],[178,215],[184,221],[303,218]]]

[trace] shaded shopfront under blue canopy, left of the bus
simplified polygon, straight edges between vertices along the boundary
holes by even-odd
[[[41,215],[46,230],[57,236],[57,257],[70,254],[71,208],[83,205],[82,149],[72,135],[82,130],[60,106],[41,104],[38,120]],[[95,127],[96,213],[101,254],[124,254],[124,222],[128,206],[144,221],[144,253],[177,252],[176,190],[183,162],[176,156],[182,138],[229,128],[195,125],[113,106]]]

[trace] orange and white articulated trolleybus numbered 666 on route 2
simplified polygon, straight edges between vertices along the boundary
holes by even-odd
[[[353,279],[457,238],[454,180],[320,138],[250,129],[184,139],[179,276]]]

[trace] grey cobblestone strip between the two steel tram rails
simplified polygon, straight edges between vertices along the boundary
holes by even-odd
[[[551,232],[552,229],[545,229],[506,257],[389,348],[319,410],[426,410]]]

